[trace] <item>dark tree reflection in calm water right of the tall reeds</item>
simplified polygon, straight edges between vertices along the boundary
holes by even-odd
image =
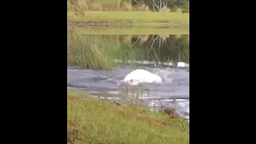
[[[137,42],[138,38],[133,41]],[[143,50],[143,58],[148,61],[189,62],[188,35],[151,35],[147,42],[136,43],[135,46]]]

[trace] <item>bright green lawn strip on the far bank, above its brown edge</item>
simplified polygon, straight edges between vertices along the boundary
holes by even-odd
[[[68,12],[69,21],[182,21],[188,22],[189,13],[175,12],[121,12],[121,11],[86,11],[85,15],[75,15]]]

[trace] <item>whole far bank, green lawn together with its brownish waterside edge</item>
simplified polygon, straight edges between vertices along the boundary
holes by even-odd
[[[189,27],[189,13],[141,11],[85,11],[84,15],[68,12],[70,26],[163,26]]]

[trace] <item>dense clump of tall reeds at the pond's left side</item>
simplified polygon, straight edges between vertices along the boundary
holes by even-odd
[[[68,33],[68,63],[93,69],[114,69],[116,63],[109,55],[110,44],[95,37]]]

